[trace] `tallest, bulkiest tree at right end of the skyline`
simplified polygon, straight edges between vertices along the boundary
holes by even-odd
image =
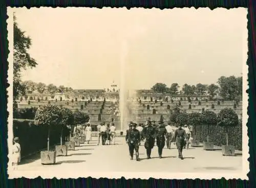
[[[239,89],[239,87],[242,88],[241,78],[237,79],[234,76],[222,76],[218,79],[218,84],[220,86],[220,96],[224,99],[235,100],[238,97],[239,93],[242,93],[242,90]]]

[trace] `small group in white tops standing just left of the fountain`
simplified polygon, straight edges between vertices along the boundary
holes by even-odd
[[[115,145],[116,127],[113,121],[114,119],[112,119],[111,123],[100,123],[97,126],[98,145],[100,143],[100,138],[102,145]]]

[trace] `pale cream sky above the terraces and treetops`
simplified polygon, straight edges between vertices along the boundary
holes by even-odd
[[[247,10],[15,8],[38,65],[22,80],[74,89],[149,89],[241,76]],[[124,87],[124,86],[123,86]]]

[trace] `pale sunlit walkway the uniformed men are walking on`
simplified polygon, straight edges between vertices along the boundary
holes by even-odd
[[[36,154],[22,160],[15,172],[52,173],[56,171],[89,172],[183,172],[183,173],[238,173],[242,171],[242,155],[222,156],[221,150],[204,151],[202,147],[183,150],[184,160],[178,158],[174,145],[163,149],[163,158],[158,158],[157,146],[152,150],[152,159],[146,159],[146,151],[139,148],[140,161],[130,160],[124,137],[116,138],[116,145],[97,146],[96,137],[90,144],[68,151],[68,156],[56,157],[56,165],[41,165],[40,155]],[[40,175],[40,174],[38,174]]]

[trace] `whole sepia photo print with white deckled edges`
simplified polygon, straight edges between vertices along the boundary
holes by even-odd
[[[246,15],[8,8],[9,178],[248,179]]]

